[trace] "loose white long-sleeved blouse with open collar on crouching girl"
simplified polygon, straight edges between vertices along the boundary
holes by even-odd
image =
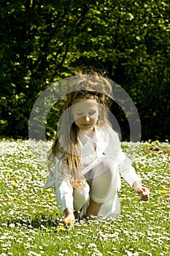
[[[117,190],[120,189],[120,174],[131,187],[134,181],[140,181],[140,178],[137,176],[134,167],[131,166],[131,160],[121,151],[117,133],[109,125],[96,126],[93,138],[79,131],[78,141],[80,143],[78,154],[80,154],[80,161],[83,165],[83,175],[92,170],[93,167],[96,167],[104,158],[112,157],[115,162],[115,181],[98,212],[98,217],[102,216],[102,219],[116,217],[120,213],[120,203],[117,197]],[[96,144],[96,150],[93,143]],[[61,162],[59,162],[58,158],[55,158],[55,160],[56,165],[53,169],[53,174],[49,174],[44,188],[55,187],[56,201],[61,206],[62,211],[66,208],[74,209],[72,185],[69,179],[61,176],[61,172],[58,171],[61,169]]]

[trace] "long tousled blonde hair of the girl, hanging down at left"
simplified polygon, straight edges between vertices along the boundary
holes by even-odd
[[[109,108],[110,97],[112,94],[112,85],[107,78],[104,78],[98,73],[82,74],[78,72],[72,83],[69,84],[69,94],[65,96],[65,104],[63,105],[64,115],[61,118],[56,138],[48,156],[48,167],[55,165],[55,157],[58,157],[61,162],[61,173],[63,177],[69,177],[72,187],[85,186],[85,178],[82,176],[80,156],[77,154],[79,142],[77,134],[79,128],[72,121],[71,107],[78,99],[96,99],[100,105],[103,106],[99,120],[98,127],[104,124],[110,124],[107,116],[106,108]],[[74,91],[73,91],[74,90]],[[69,131],[69,135],[68,135]]]

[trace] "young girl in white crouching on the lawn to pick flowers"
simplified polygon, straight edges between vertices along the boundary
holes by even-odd
[[[80,211],[80,217],[115,218],[120,213],[120,174],[142,200],[149,200],[149,190],[142,187],[130,159],[121,151],[107,117],[112,93],[109,80],[98,74],[79,74],[68,91],[45,184],[45,188],[55,187],[63,223],[74,222],[75,211]]]

